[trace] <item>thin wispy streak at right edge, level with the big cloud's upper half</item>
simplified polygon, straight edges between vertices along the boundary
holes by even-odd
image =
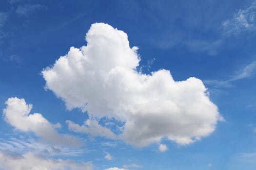
[[[240,69],[236,75],[234,75],[232,78],[225,80],[225,81],[219,81],[219,80],[205,80],[203,81],[205,84],[213,85],[216,88],[221,87],[232,87],[232,82],[238,81],[241,79],[251,78],[256,72],[256,61],[251,62],[244,68]]]

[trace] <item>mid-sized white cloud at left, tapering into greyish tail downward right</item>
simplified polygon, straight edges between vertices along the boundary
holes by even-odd
[[[56,125],[51,124],[41,114],[29,114],[32,104],[26,104],[24,99],[9,98],[5,104],[7,106],[3,109],[3,119],[16,129],[23,132],[34,132],[37,136],[52,144],[72,146],[81,144],[74,136],[60,135],[54,128]]]

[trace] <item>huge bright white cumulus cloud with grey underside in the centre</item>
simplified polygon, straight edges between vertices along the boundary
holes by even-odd
[[[86,41],[87,46],[71,47],[52,67],[43,69],[45,87],[68,109],[88,111],[90,119],[125,122],[118,137],[127,143],[146,146],[163,137],[181,145],[193,143],[210,135],[222,119],[201,80],[175,81],[165,69],[151,74],[138,71],[138,48],[130,48],[123,31],[95,23]],[[67,123],[79,131],[75,123]]]

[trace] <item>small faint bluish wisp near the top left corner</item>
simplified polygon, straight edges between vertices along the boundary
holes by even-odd
[[[16,14],[18,16],[27,17],[38,10],[45,10],[45,9],[47,9],[47,7],[45,5],[40,5],[40,4],[19,5],[18,8],[16,9]]]

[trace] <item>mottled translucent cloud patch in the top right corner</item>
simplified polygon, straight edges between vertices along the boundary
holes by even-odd
[[[239,9],[233,16],[222,23],[226,35],[239,34],[243,31],[256,30],[256,1],[246,9]]]

